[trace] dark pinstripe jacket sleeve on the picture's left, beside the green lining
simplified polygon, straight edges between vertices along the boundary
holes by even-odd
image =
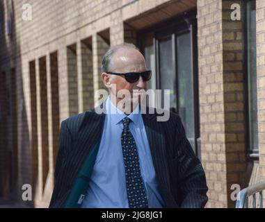
[[[49,207],[56,207],[56,201],[61,198],[61,188],[62,185],[62,179],[61,179],[61,169],[63,168],[63,165],[65,164],[65,157],[67,155],[67,151],[69,151],[69,148],[72,144],[72,136],[70,134],[70,130],[67,127],[67,124],[65,121],[62,121],[61,123],[61,130],[60,130],[60,139],[59,139],[59,146],[58,146],[58,153],[56,156],[56,167],[55,167],[55,173],[54,173],[54,191],[51,196],[51,202],[49,204]]]

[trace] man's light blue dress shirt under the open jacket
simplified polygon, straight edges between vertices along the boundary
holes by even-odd
[[[127,116],[113,105],[110,98],[106,101],[106,112],[99,152],[86,197],[81,205],[82,208],[129,207],[120,142],[123,130],[122,119]],[[136,108],[128,117],[131,119],[129,128],[136,141],[140,172],[147,192],[149,207],[164,207],[140,109]]]

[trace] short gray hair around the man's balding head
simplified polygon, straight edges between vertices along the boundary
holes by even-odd
[[[102,58],[102,72],[108,72],[109,71],[109,65],[111,63],[111,58],[112,58],[113,54],[122,48],[123,49],[136,49],[136,50],[140,51],[134,44],[127,43],[127,42],[112,46],[111,48],[108,49],[108,51],[106,51],[106,53],[104,54],[104,56]]]

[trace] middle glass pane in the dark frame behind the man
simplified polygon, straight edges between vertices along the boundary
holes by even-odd
[[[170,108],[177,108],[171,37],[159,42],[159,69],[161,89],[170,89]]]

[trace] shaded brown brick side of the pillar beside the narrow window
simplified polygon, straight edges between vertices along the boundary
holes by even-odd
[[[243,17],[243,1],[233,1],[241,6]],[[231,200],[230,187],[239,184],[248,186],[249,175],[246,173],[246,104],[244,92],[244,42],[243,18],[241,21],[231,20],[231,1],[223,1],[223,82],[225,102],[225,146],[227,169],[228,207],[234,207]]]

